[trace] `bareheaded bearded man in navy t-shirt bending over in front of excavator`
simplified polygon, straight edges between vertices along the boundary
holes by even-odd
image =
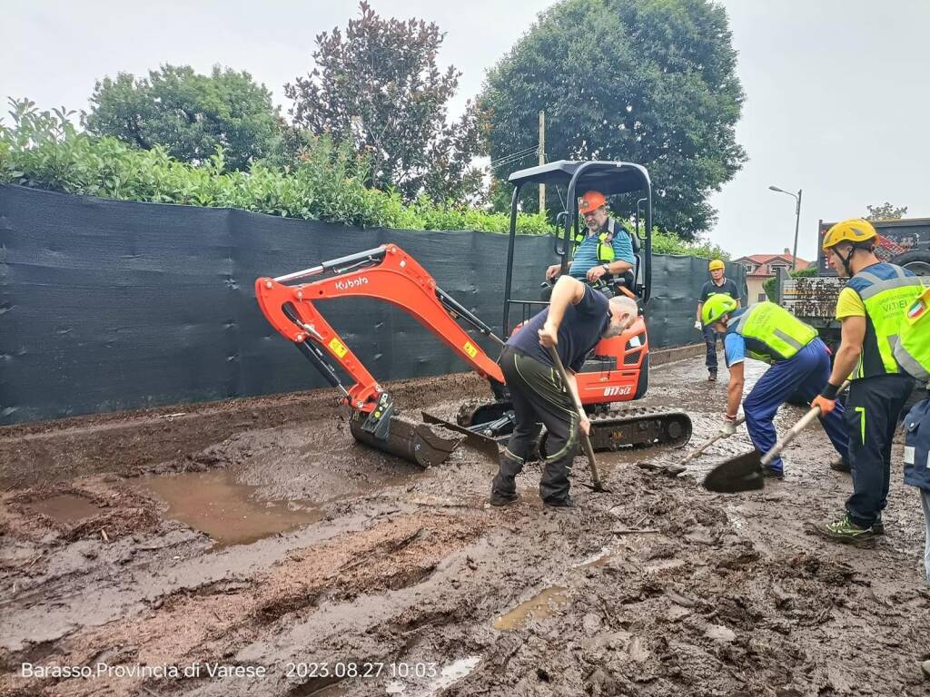
[[[552,289],[550,306],[532,317],[512,335],[498,362],[511,390],[516,424],[507,449],[500,456],[498,475],[491,487],[491,505],[507,506],[518,500],[514,478],[539,435],[548,431],[547,450],[539,496],[546,506],[572,506],[568,494],[572,459],[578,450],[578,429],[588,434],[591,422],[578,414],[571,393],[578,395],[575,374],[602,338],[617,336],[636,320],[638,309],[629,297],[609,300],[604,294],[569,276]],[[568,385],[562,383],[549,354],[555,347],[565,365]]]

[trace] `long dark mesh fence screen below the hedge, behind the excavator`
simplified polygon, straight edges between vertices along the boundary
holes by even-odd
[[[390,242],[499,330],[506,235],[362,230],[0,186],[0,425],[325,387],[261,314],[255,279]],[[538,298],[551,250],[550,237],[518,237],[522,296]],[[706,269],[654,257],[653,348],[700,340],[692,325]],[[735,265],[727,271],[744,283]],[[467,370],[386,303],[321,308],[379,380]]]

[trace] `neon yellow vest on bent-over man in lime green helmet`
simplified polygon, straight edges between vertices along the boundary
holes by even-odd
[[[751,305],[726,322],[746,339],[746,355],[766,363],[794,358],[817,337],[817,330],[771,302]]]

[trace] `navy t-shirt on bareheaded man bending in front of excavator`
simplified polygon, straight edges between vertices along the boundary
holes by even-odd
[[[507,345],[520,349],[540,363],[554,367],[549,349],[539,344],[538,332],[548,317],[549,308],[531,317],[519,332],[508,339]],[[556,350],[565,368],[576,373],[581,370],[585,357],[597,346],[609,323],[610,304],[606,296],[586,285],[578,305],[565,308],[565,316],[559,325]]]

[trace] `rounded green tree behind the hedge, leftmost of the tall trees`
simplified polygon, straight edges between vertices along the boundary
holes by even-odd
[[[146,150],[203,162],[223,147],[228,169],[268,156],[280,138],[272,93],[247,72],[214,67],[203,75],[187,65],[164,65],[136,79],[121,72],[98,82],[84,115],[88,132],[114,136]]]

